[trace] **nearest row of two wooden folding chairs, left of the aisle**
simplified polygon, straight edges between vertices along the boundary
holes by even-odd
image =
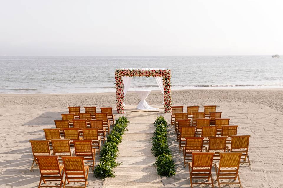
[[[42,155],[37,156],[37,164],[40,170],[40,182],[38,187],[71,187],[66,186],[66,182],[84,182],[85,187],[88,184],[89,166],[85,166],[84,157],[62,157],[63,163],[59,164],[58,156]],[[65,173],[65,180],[63,183]],[[41,182],[60,182],[57,186],[42,186]]]

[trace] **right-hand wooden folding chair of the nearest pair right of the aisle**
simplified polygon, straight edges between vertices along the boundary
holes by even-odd
[[[218,187],[221,184],[242,184],[238,174],[242,152],[221,152],[219,163],[215,163],[215,172],[218,182]],[[238,177],[238,182],[235,182]],[[232,182],[220,182],[219,179],[233,179]]]

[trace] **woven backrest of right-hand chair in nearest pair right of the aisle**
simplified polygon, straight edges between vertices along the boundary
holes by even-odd
[[[220,152],[218,174],[221,168],[236,168],[235,172],[238,172],[240,166],[240,160],[242,152]],[[232,169],[230,169],[230,172]]]

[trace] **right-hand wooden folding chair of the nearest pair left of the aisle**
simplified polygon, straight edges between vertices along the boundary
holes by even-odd
[[[65,172],[65,187],[84,187],[88,184],[89,166],[84,165],[83,157],[62,157]],[[70,182],[85,182],[84,186],[66,186],[66,181]]]

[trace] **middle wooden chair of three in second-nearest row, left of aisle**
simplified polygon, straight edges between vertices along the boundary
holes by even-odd
[[[59,157],[72,156],[75,150],[71,150],[70,139],[51,140],[53,155]]]

